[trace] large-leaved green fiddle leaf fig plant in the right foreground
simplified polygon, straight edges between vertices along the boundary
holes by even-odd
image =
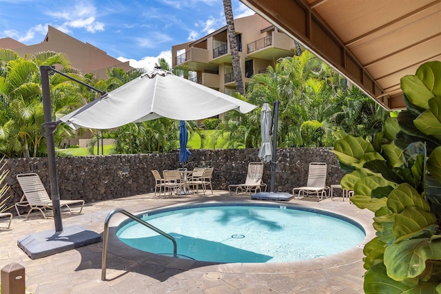
[[[338,133],[351,201],[374,212],[365,293],[441,293],[441,62],[401,79],[407,109],[373,143]]]

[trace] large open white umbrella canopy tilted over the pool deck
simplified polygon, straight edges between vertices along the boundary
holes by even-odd
[[[200,120],[256,105],[155,69],[61,118],[73,129],[112,129],[154,118]]]

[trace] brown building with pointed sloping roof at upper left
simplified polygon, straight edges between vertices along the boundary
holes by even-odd
[[[125,71],[132,69],[128,61],[121,62],[94,45],[83,43],[50,25],[41,43],[25,45],[8,37],[0,39],[0,48],[14,50],[20,56],[44,51],[61,52],[68,56],[72,67],[81,70],[83,74],[92,73],[101,79],[107,78],[107,68],[111,70],[112,67],[121,67]]]

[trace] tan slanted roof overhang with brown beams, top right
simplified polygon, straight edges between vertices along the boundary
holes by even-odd
[[[441,61],[441,0],[240,0],[387,109],[400,78]]]

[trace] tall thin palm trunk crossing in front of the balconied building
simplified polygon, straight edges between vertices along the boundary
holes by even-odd
[[[236,92],[245,95],[243,87],[242,72],[240,71],[239,52],[236,39],[236,30],[234,30],[234,18],[231,0],[223,0],[223,9],[225,10],[225,20],[227,21],[227,33],[229,49],[232,53],[234,80],[236,81]]]

